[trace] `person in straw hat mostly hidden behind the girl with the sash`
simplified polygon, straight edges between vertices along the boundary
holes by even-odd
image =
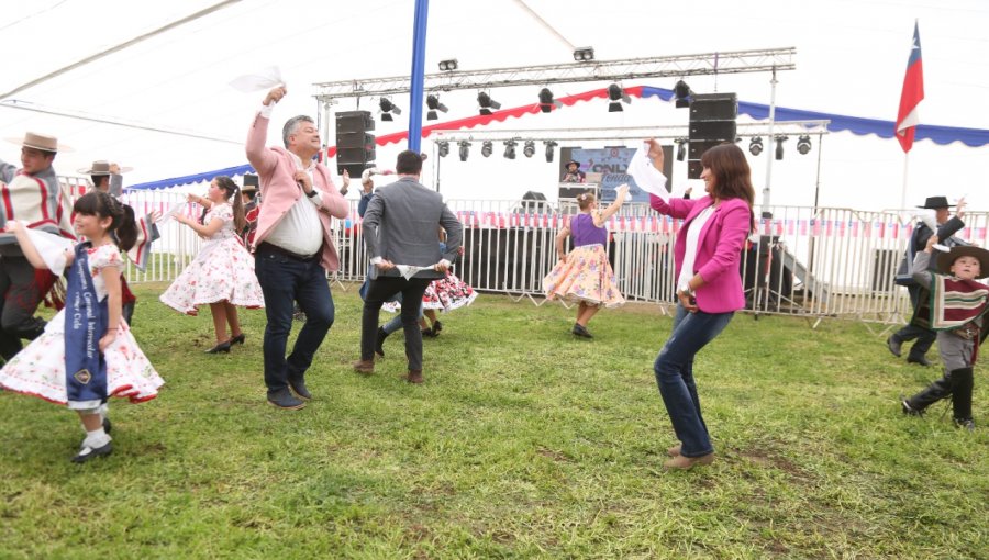
[[[89,176],[92,180],[93,188],[109,193],[118,199],[127,212],[135,213],[134,209],[122,200],[122,173],[125,173],[131,169],[132,168],[130,167],[121,167],[114,163],[98,160],[93,161],[88,168],[79,169],[79,172]],[[134,246],[127,251],[127,258],[131,259],[131,262],[133,262],[138,270],[145,269],[148,256],[151,255],[151,244],[160,237],[158,227],[155,225],[155,222],[159,217],[162,217],[162,213],[158,211],[151,212],[141,217],[134,216],[134,222],[137,223],[137,239],[134,243]],[[123,276],[123,271],[121,271],[120,275],[120,282],[122,290],[123,317],[129,325],[133,326],[134,305],[137,303],[137,298],[127,287],[127,281]]]

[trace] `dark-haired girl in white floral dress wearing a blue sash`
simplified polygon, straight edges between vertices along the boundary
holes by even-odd
[[[76,233],[88,240],[71,250],[51,234],[8,223],[34,267],[55,273],[69,267],[69,273],[65,309],[0,370],[0,385],[76,411],[86,439],[73,462],[81,463],[113,451],[105,415],[109,396],[148,401],[165,381],[121,316],[120,251],[134,243],[133,219],[99,191],[80,197],[73,211]]]

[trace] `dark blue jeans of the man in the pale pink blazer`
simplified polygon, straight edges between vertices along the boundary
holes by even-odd
[[[300,260],[258,247],[254,271],[265,294],[265,384],[268,393],[284,390],[288,380],[301,380],[312,357],[333,325],[333,295],[326,271],[316,256]],[[286,359],[285,348],[292,329],[295,302],[305,313],[305,324]]]

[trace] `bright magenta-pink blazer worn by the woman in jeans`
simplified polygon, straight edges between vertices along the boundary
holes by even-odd
[[[669,203],[649,194],[649,206],[660,214],[684,219],[684,226],[674,245],[677,278],[687,251],[686,229],[702,210],[713,203],[711,197],[697,200],[669,199]],[[701,229],[698,239],[693,273],[700,273],[704,285],[697,290],[697,306],[704,313],[727,313],[745,306],[738,260],[742,244],[752,228],[752,209],[742,199],[721,202]]]

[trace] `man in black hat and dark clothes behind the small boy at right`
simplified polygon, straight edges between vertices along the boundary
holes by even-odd
[[[927,239],[935,233],[946,246],[965,244],[965,242],[952,237],[955,233],[965,227],[965,222],[962,221],[962,217],[965,215],[965,199],[958,201],[958,210],[955,211],[954,217],[951,216],[952,205],[953,204],[948,204],[947,198],[945,197],[927,197],[924,201],[924,205],[918,206],[919,209],[933,210],[934,220],[932,221],[929,216],[923,216],[918,221],[913,234],[910,236],[910,242],[907,245],[907,253],[897,271],[897,283],[905,285],[907,291],[910,292],[913,317],[909,324],[886,339],[886,346],[893,356],[899,358],[902,355],[903,343],[916,339],[910,348],[910,354],[907,356],[908,363],[930,366],[931,362],[927,360],[926,354],[936,338],[935,333],[929,327],[926,320],[926,302],[930,299],[930,294],[926,288],[918,284],[916,281],[913,280],[912,265],[914,257],[924,250]]]

